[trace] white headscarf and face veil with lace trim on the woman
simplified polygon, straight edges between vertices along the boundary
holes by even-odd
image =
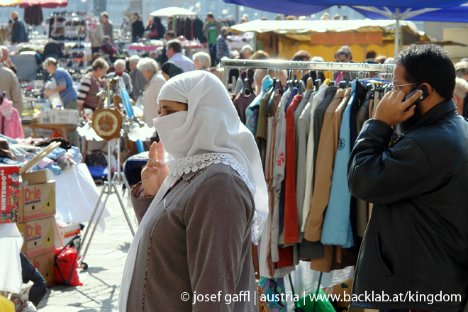
[[[254,194],[255,216],[252,241],[257,244],[268,216],[267,185],[255,139],[240,122],[228,92],[214,74],[192,71],[169,79],[157,101],[186,103],[187,111],[155,118],[155,128],[172,160],[169,177],[160,187],[141,221],[128,251],[118,298],[119,311],[126,311],[128,291],[135,268],[143,228],[177,176],[222,162],[230,165]]]

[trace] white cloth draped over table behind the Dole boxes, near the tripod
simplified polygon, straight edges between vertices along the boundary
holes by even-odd
[[[55,175],[50,171],[50,179],[55,180],[55,203],[57,213],[55,219],[65,223],[88,222],[99,199],[99,191],[94,184],[86,164],[79,164],[72,169]],[[101,200],[99,211],[104,205]],[[104,230],[104,218],[111,216],[107,208],[104,211],[99,226]],[[96,220],[97,215],[94,220]]]

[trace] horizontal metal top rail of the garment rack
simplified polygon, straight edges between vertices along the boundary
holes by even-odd
[[[288,60],[221,60],[224,68],[223,84],[228,88],[230,69],[292,69],[314,70],[334,72],[382,72],[391,74],[394,71],[393,64],[369,64],[369,63],[338,63],[338,62],[303,62]]]

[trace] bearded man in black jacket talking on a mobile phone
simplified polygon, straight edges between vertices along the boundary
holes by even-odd
[[[454,87],[445,50],[409,46],[396,57],[394,90],[356,140],[348,186],[374,208],[351,307],[455,312],[467,300],[468,122]]]

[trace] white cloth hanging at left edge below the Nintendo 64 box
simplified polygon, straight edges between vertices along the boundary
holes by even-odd
[[[0,224],[0,291],[19,294],[21,291],[21,260],[23,238],[15,223]]]

